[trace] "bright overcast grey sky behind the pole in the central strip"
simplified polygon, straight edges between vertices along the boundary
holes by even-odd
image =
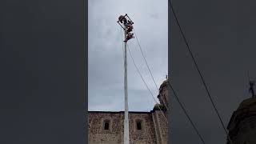
[[[154,0],[90,0],[89,1],[89,110],[124,110],[124,66],[121,27],[118,16],[128,14],[134,21],[134,31],[142,46],[158,87],[168,74],[168,7],[167,1]],[[157,98],[158,91],[150,79],[135,38],[128,42],[150,90]],[[129,54],[129,53],[127,53]],[[134,64],[128,58],[129,110],[150,111],[154,99],[142,82]]]

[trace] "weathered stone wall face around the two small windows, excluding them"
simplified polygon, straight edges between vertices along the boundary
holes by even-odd
[[[158,112],[158,111],[157,111]],[[155,126],[152,119],[155,112],[130,112],[130,143],[156,143]],[[89,112],[89,143],[122,143],[123,112]],[[161,117],[161,116],[160,116]],[[162,119],[162,118],[160,118]],[[110,122],[110,130],[104,130],[103,122]],[[142,122],[142,130],[137,130],[137,121]],[[162,122],[159,122],[161,126]]]

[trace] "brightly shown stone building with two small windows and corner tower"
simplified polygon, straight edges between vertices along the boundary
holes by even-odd
[[[130,144],[167,144],[167,80],[151,111],[129,111]],[[123,144],[124,112],[89,111],[89,144]]]

